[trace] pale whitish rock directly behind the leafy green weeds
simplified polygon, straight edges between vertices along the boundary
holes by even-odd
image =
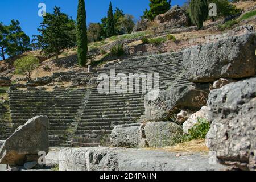
[[[198,118],[209,119],[209,108],[207,106],[203,106],[200,111],[192,114],[187,121],[183,123],[183,131],[184,133],[188,133],[189,129],[192,129],[194,125],[198,122]]]

